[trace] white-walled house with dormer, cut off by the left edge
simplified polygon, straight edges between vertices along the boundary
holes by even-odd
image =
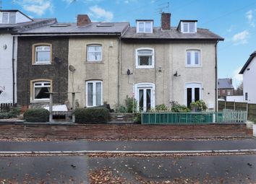
[[[17,32],[53,19],[31,19],[19,10],[0,10],[0,103],[17,102]],[[19,48],[20,49],[20,48]]]

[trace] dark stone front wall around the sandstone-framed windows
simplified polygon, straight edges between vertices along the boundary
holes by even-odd
[[[33,65],[32,49],[35,43],[52,44],[52,62],[50,65]],[[17,51],[17,103],[28,106],[30,103],[30,81],[51,79],[54,104],[64,104],[68,90],[68,52],[67,37],[20,37]],[[56,63],[54,58],[59,58]]]

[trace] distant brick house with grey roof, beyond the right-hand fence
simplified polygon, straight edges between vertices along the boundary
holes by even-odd
[[[218,99],[226,100],[226,97],[231,95],[234,95],[232,79],[218,79]]]

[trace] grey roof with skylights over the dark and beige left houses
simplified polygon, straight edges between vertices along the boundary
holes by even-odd
[[[129,27],[128,22],[92,22],[85,26],[77,23],[54,23],[17,32],[19,35],[121,35]]]

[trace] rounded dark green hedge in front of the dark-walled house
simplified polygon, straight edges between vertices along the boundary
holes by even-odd
[[[32,108],[27,110],[23,117],[27,122],[47,122],[49,115],[49,111],[44,108]]]

